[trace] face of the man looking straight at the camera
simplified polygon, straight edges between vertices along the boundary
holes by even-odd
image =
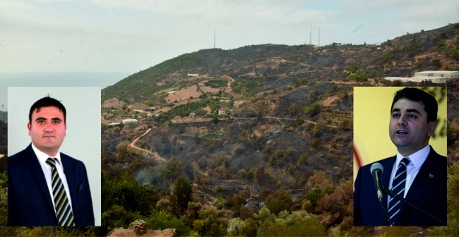
[[[55,156],[66,136],[64,114],[57,107],[42,107],[33,111],[27,124],[32,143],[42,152]]]

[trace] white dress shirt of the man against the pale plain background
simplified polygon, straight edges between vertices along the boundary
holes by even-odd
[[[38,158],[38,162],[40,162],[40,165],[42,166],[44,178],[46,179],[46,183],[48,185],[49,195],[51,195],[52,204],[54,205],[54,213],[56,213],[56,204],[54,203],[54,195],[52,193],[52,168],[49,164],[46,163],[46,160],[48,158],[52,158],[52,159],[55,158],[54,160],[57,159],[56,161],[57,173],[59,174],[59,178],[61,178],[62,184],[64,184],[64,188],[66,189],[66,195],[68,198],[68,203],[70,203],[70,208],[72,209],[72,200],[70,197],[70,192],[68,190],[67,178],[66,178],[66,175],[64,174],[64,166],[61,165],[61,151],[59,150],[57,152],[56,157],[51,157],[48,154],[38,150],[38,148],[35,147],[33,143],[32,143],[32,149]],[[72,212],[73,212],[73,209],[72,209]],[[56,214],[56,217],[57,217],[57,214]]]

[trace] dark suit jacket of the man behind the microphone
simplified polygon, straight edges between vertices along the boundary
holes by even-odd
[[[408,202],[446,222],[446,157],[430,147],[429,155],[413,181],[405,197]],[[388,188],[396,157],[378,161],[383,165],[383,187]],[[386,214],[378,201],[371,164],[359,169],[354,183],[354,226],[387,226]],[[383,205],[387,209],[387,194],[383,194]],[[439,226],[438,221],[400,202],[400,226]]]

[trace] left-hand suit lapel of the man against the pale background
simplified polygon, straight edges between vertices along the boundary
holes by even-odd
[[[46,183],[46,179],[44,178],[42,166],[40,165],[40,162],[38,162],[37,155],[35,155],[35,152],[33,152],[32,145],[29,145],[26,150],[28,154],[27,159],[25,159],[25,165],[28,167],[30,174],[32,174],[32,176],[35,178],[35,181],[37,181],[38,186],[40,187],[42,195],[44,195],[47,204],[49,205],[49,207],[54,209],[54,205],[52,204],[51,200],[51,195],[49,194],[48,185]]]

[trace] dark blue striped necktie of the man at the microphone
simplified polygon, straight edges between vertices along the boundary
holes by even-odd
[[[395,173],[395,176],[393,178],[392,191],[393,193],[397,193],[397,195],[399,195],[400,197],[403,197],[403,195],[405,195],[407,165],[409,163],[409,158],[403,158],[400,161],[400,164],[398,164],[397,172]],[[400,223],[400,215],[398,215],[398,212],[400,212],[400,206],[400,200],[396,200],[393,197],[391,197],[391,200],[389,200],[388,214],[389,217],[391,217],[391,221],[394,225]]]

